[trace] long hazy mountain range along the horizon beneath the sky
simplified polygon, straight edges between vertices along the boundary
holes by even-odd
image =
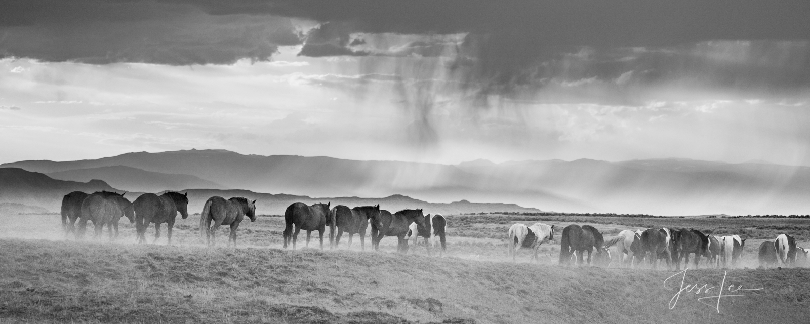
[[[0,167],[64,180],[100,179],[132,191],[231,188],[309,197],[403,194],[430,202],[467,199],[544,211],[656,215],[810,213],[810,168],[765,161],[475,160],[447,165],[190,150],[98,160],[20,161]]]

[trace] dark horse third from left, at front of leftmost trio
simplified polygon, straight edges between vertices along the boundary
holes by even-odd
[[[142,194],[132,202],[135,209],[135,228],[138,232],[137,240],[145,243],[147,228],[150,223],[155,224],[155,244],[160,237],[160,224],[166,223],[168,243],[172,244],[172,229],[174,220],[177,219],[177,212],[180,212],[183,220],[189,217],[187,210],[189,206],[188,193],[180,194],[169,191],[158,196],[157,194]]]

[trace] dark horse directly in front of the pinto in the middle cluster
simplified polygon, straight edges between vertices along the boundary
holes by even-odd
[[[408,247],[405,236],[411,228],[411,223],[425,227],[421,209],[405,209],[397,211],[394,215],[391,215],[390,211],[381,210],[371,222],[371,243],[374,250],[380,249],[382,237],[397,237],[399,239],[397,252],[406,254]]]

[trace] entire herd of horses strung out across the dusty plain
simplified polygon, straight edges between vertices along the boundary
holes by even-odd
[[[187,194],[167,192],[141,194],[130,202],[118,194],[99,191],[85,194],[74,191],[62,199],[62,226],[65,235],[75,234],[76,239],[84,236],[87,222],[95,227],[95,237],[99,237],[107,226],[110,240],[118,236],[118,221],[122,217],[135,224],[136,238],[139,243],[146,241],[145,234],[150,224],[155,224],[155,240],[160,237],[160,224],[166,224],[168,244],[172,242],[172,230],[177,213],[183,219],[189,216]],[[200,214],[200,237],[207,245],[215,242],[215,233],[220,226],[230,226],[228,245],[237,245],[237,228],[245,216],[256,221],[256,201],[242,197],[225,199],[208,198]],[[77,224],[78,221],[78,224]],[[330,203],[292,203],[284,211],[285,228],[283,247],[296,241],[301,230],[306,231],[306,245],[309,245],[311,234],[318,231],[321,249],[323,236],[329,228],[330,247],[337,248],[343,233],[347,233],[347,248],[352,245],[354,235],[360,236],[360,248],[365,249],[365,233],[371,226],[371,244],[378,250],[383,237],[397,237],[397,252],[406,254],[408,242],[416,245],[419,237],[424,238],[428,255],[432,248],[439,249],[439,255],[446,250],[445,231],[447,221],[444,215],[424,215],[421,209],[405,209],[391,213],[377,206],[360,206],[349,208],[343,205],[330,208]],[[113,233],[114,228],[114,233]],[[555,233],[559,226],[535,223],[531,226],[514,224],[509,228],[508,257],[514,262],[518,249],[531,249],[530,262],[539,262],[539,247],[544,243],[556,244]],[[666,262],[667,268],[673,266],[680,271],[681,262],[689,266],[689,257],[693,255],[694,267],[698,267],[701,258],[706,259],[706,266],[716,268],[737,267],[743,255],[745,240],[739,235],[714,236],[706,235],[696,229],[687,228],[647,228],[636,231],[624,230],[616,237],[607,240],[602,233],[590,225],[572,224],[561,231],[559,264],[569,265],[572,261],[578,265],[609,266],[612,262],[622,267],[639,267],[646,261],[646,266],[658,268],[659,262]],[[154,242],[153,241],[153,242]],[[585,257],[587,254],[587,258]],[[796,245],[793,237],[781,234],[774,241],[765,241],[759,246],[757,257],[760,265],[798,266],[804,265],[810,249]],[[549,255],[549,258],[551,256]]]

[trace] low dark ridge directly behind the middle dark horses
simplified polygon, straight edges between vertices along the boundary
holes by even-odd
[[[223,198],[245,197],[256,200],[258,214],[283,215],[287,207],[296,202],[306,203],[331,203],[331,207],[346,205],[348,207],[370,206],[380,204],[380,208],[386,211],[400,211],[407,208],[422,208],[425,215],[428,213],[440,213],[445,215],[473,213],[473,212],[539,212],[535,208],[520,207],[512,203],[470,203],[462,200],[454,203],[428,203],[419,199],[410,198],[401,194],[394,194],[385,198],[358,198],[358,197],[338,197],[338,198],[310,198],[306,196],[295,196],[290,194],[260,194],[249,190],[181,190],[189,194],[189,213],[203,211],[203,204],[208,198],[220,196]]]

